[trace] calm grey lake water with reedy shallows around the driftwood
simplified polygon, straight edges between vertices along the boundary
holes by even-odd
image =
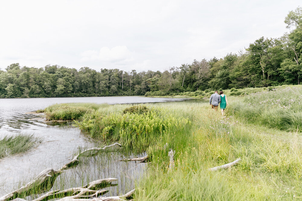
[[[16,133],[33,134],[43,142],[29,152],[0,159],[0,197],[31,181],[46,168],[59,169],[70,161],[79,147],[98,146],[71,124],[49,125],[30,111],[46,108],[55,103],[91,102],[108,104],[182,101],[184,99],[148,98],[141,96],[0,99],[0,138]],[[144,155],[144,154],[142,154]],[[140,155],[140,156],[142,156]],[[54,185],[55,189],[79,187],[90,181],[107,177],[117,178],[116,187],[107,195],[121,195],[134,187],[145,164],[118,162],[130,155],[122,152],[105,152],[85,159],[76,168],[66,170]],[[134,156],[136,157],[136,156]]]

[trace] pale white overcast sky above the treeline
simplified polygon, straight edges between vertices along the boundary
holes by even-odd
[[[9,64],[164,71],[280,37],[298,0],[1,1],[0,68]]]

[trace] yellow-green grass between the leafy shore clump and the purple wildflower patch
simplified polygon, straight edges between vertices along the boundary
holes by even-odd
[[[167,171],[167,151],[160,151],[162,144],[153,147],[152,152],[158,155],[153,157],[146,176],[137,184],[135,199],[292,200],[302,197],[300,135],[247,125],[233,116],[223,118],[207,104],[196,106],[190,111],[196,115],[192,134],[186,136],[185,146],[175,149],[175,169]],[[239,157],[242,161],[232,168],[207,170]]]

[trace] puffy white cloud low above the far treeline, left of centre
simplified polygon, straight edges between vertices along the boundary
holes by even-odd
[[[102,47],[100,51],[87,50],[81,53],[81,62],[85,61],[108,61],[124,63],[133,61],[133,52],[126,46],[116,46],[111,49],[108,47]]]

